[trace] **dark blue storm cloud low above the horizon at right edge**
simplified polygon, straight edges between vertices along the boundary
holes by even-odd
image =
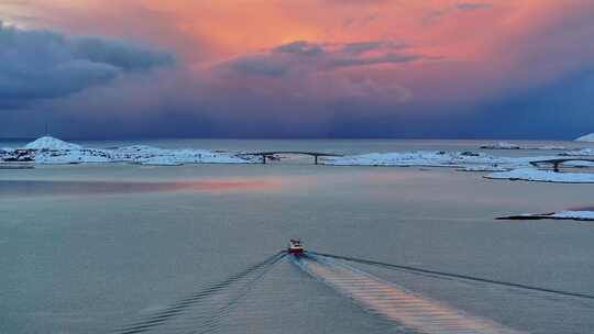
[[[464,121],[484,136],[573,140],[594,131],[592,105],[594,66],[531,90],[484,101]]]

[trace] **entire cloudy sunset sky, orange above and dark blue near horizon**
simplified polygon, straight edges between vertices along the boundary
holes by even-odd
[[[0,0],[0,137],[594,132],[591,0]]]

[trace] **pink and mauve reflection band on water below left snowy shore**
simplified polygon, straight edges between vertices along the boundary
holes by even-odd
[[[175,182],[0,180],[0,197],[140,193],[165,191],[252,191],[276,189],[280,179],[210,179]]]

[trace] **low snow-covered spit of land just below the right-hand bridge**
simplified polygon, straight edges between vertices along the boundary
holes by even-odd
[[[488,179],[507,179],[560,183],[594,183],[594,172],[554,172],[536,168],[518,168],[509,171],[492,172]]]

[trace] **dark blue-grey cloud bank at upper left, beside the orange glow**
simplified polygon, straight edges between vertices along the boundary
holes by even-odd
[[[166,53],[120,41],[0,24],[0,109],[62,98],[173,63]]]

